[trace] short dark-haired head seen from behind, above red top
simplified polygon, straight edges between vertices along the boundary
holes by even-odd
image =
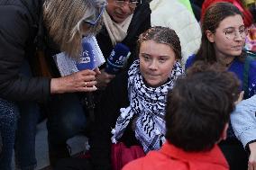
[[[195,64],[168,94],[166,139],[187,152],[210,150],[226,138],[238,96],[239,81],[233,73]]]

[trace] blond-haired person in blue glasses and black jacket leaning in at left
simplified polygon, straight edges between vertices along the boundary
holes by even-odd
[[[62,128],[63,134],[68,130],[69,134],[71,130],[81,130],[81,126],[85,126],[82,105],[75,93],[96,91],[98,70],[83,70],[63,77],[34,76],[32,67],[37,66],[33,59],[36,58],[36,42],[39,42],[42,25],[47,28],[60,51],[65,51],[71,58],[78,58],[82,37],[95,34],[99,29],[99,15],[105,10],[105,4],[105,0],[0,2],[0,131],[3,139],[1,170],[12,169],[13,148],[17,169],[35,168],[38,103],[56,104],[59,101],[55,108],[52,107],[53,104],[48,105],[51,115],[60,115],[64,111],[69,112],[69,115],[79,114],[76,126],[68,124],[69,129]],[[67,119],[74,121],[72,116]],[[59,116],[58,121],[62,120]],[[48,122],[49,141],[53,146],[50,149],[59,144],[53,142],[56,139],[52,139],[56,135],[54,126],[58,126],[53,122]],[[63,135],[62,131],[56,138],[65,143],[69,136]]]

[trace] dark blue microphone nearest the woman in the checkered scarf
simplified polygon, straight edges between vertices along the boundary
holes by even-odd
[[[124,67],[130,55],[131,52],[127,46],[117,43],[109,58],[106,59],[105,72],[116,75]]]

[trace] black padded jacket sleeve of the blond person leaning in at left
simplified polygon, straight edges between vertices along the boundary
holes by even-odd
[[[45,101],[50,79],[20,74],[26,58],[32,20],[23,6],[0,5],[0,97],[14,101]]]

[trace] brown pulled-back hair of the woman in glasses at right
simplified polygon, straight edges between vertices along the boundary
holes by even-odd
[[[201,24],[202,38],[200,48],[196,54],[196,60],[205,60],[209,63],[217,61],[214,43],[207,39],[206,31],[214,33],[219,27],[220,22],[225,18],[236,14],[240,14],[242,16],[242,13],[235,5],[226,2],[212,4],[206,9],[206,13]],[[242,58],[243,55],[244,54],[242,53]]]

